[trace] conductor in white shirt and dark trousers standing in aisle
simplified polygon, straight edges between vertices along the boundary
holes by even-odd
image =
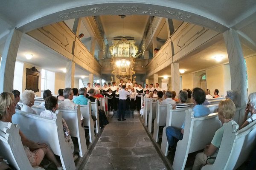
[[[122,121],[126,120],[125,119],[125,109],[126,109],[126,98],[127,95],[131,95],[130,91],[125,91],[126,86],[123,85],[122,89],[119,91],[119,102],[118,102],[118,121],[121,120],[122,116]]]

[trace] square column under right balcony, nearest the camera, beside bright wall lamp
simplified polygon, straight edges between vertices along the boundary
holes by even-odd
[[[171,74],[172,74],[172,91],[176,94],[180,92],[180,67],[179,63],[171,64]]]

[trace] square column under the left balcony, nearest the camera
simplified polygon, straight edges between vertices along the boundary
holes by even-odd
[[[76,64],[73,61],[68,61],[66,64],[66,75],[65,75],[65,88],[74,88],[75,85],[75,67]]]

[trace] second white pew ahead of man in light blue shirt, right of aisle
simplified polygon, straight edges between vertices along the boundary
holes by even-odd
[[[172,105],[169,106],[172,108]],[[154,133],[153,138],[154,141],[159,141],[159,127],[166,125],[166,116],[167,116],[167,105],[160,105],[160,102],[157,101],[157,112],[156,112],[156,118],[154,119]]]

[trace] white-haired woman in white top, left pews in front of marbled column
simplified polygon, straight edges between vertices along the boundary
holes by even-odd
[[[23,102],[24,105],[21,108],[21,111],[36,114],[36,112],[31,108],[32,105],[34,105],[34,102],[35,102],[35,93],[34,93],[34,91],[32,91],[32,90],[23,91],[22,102]]]

